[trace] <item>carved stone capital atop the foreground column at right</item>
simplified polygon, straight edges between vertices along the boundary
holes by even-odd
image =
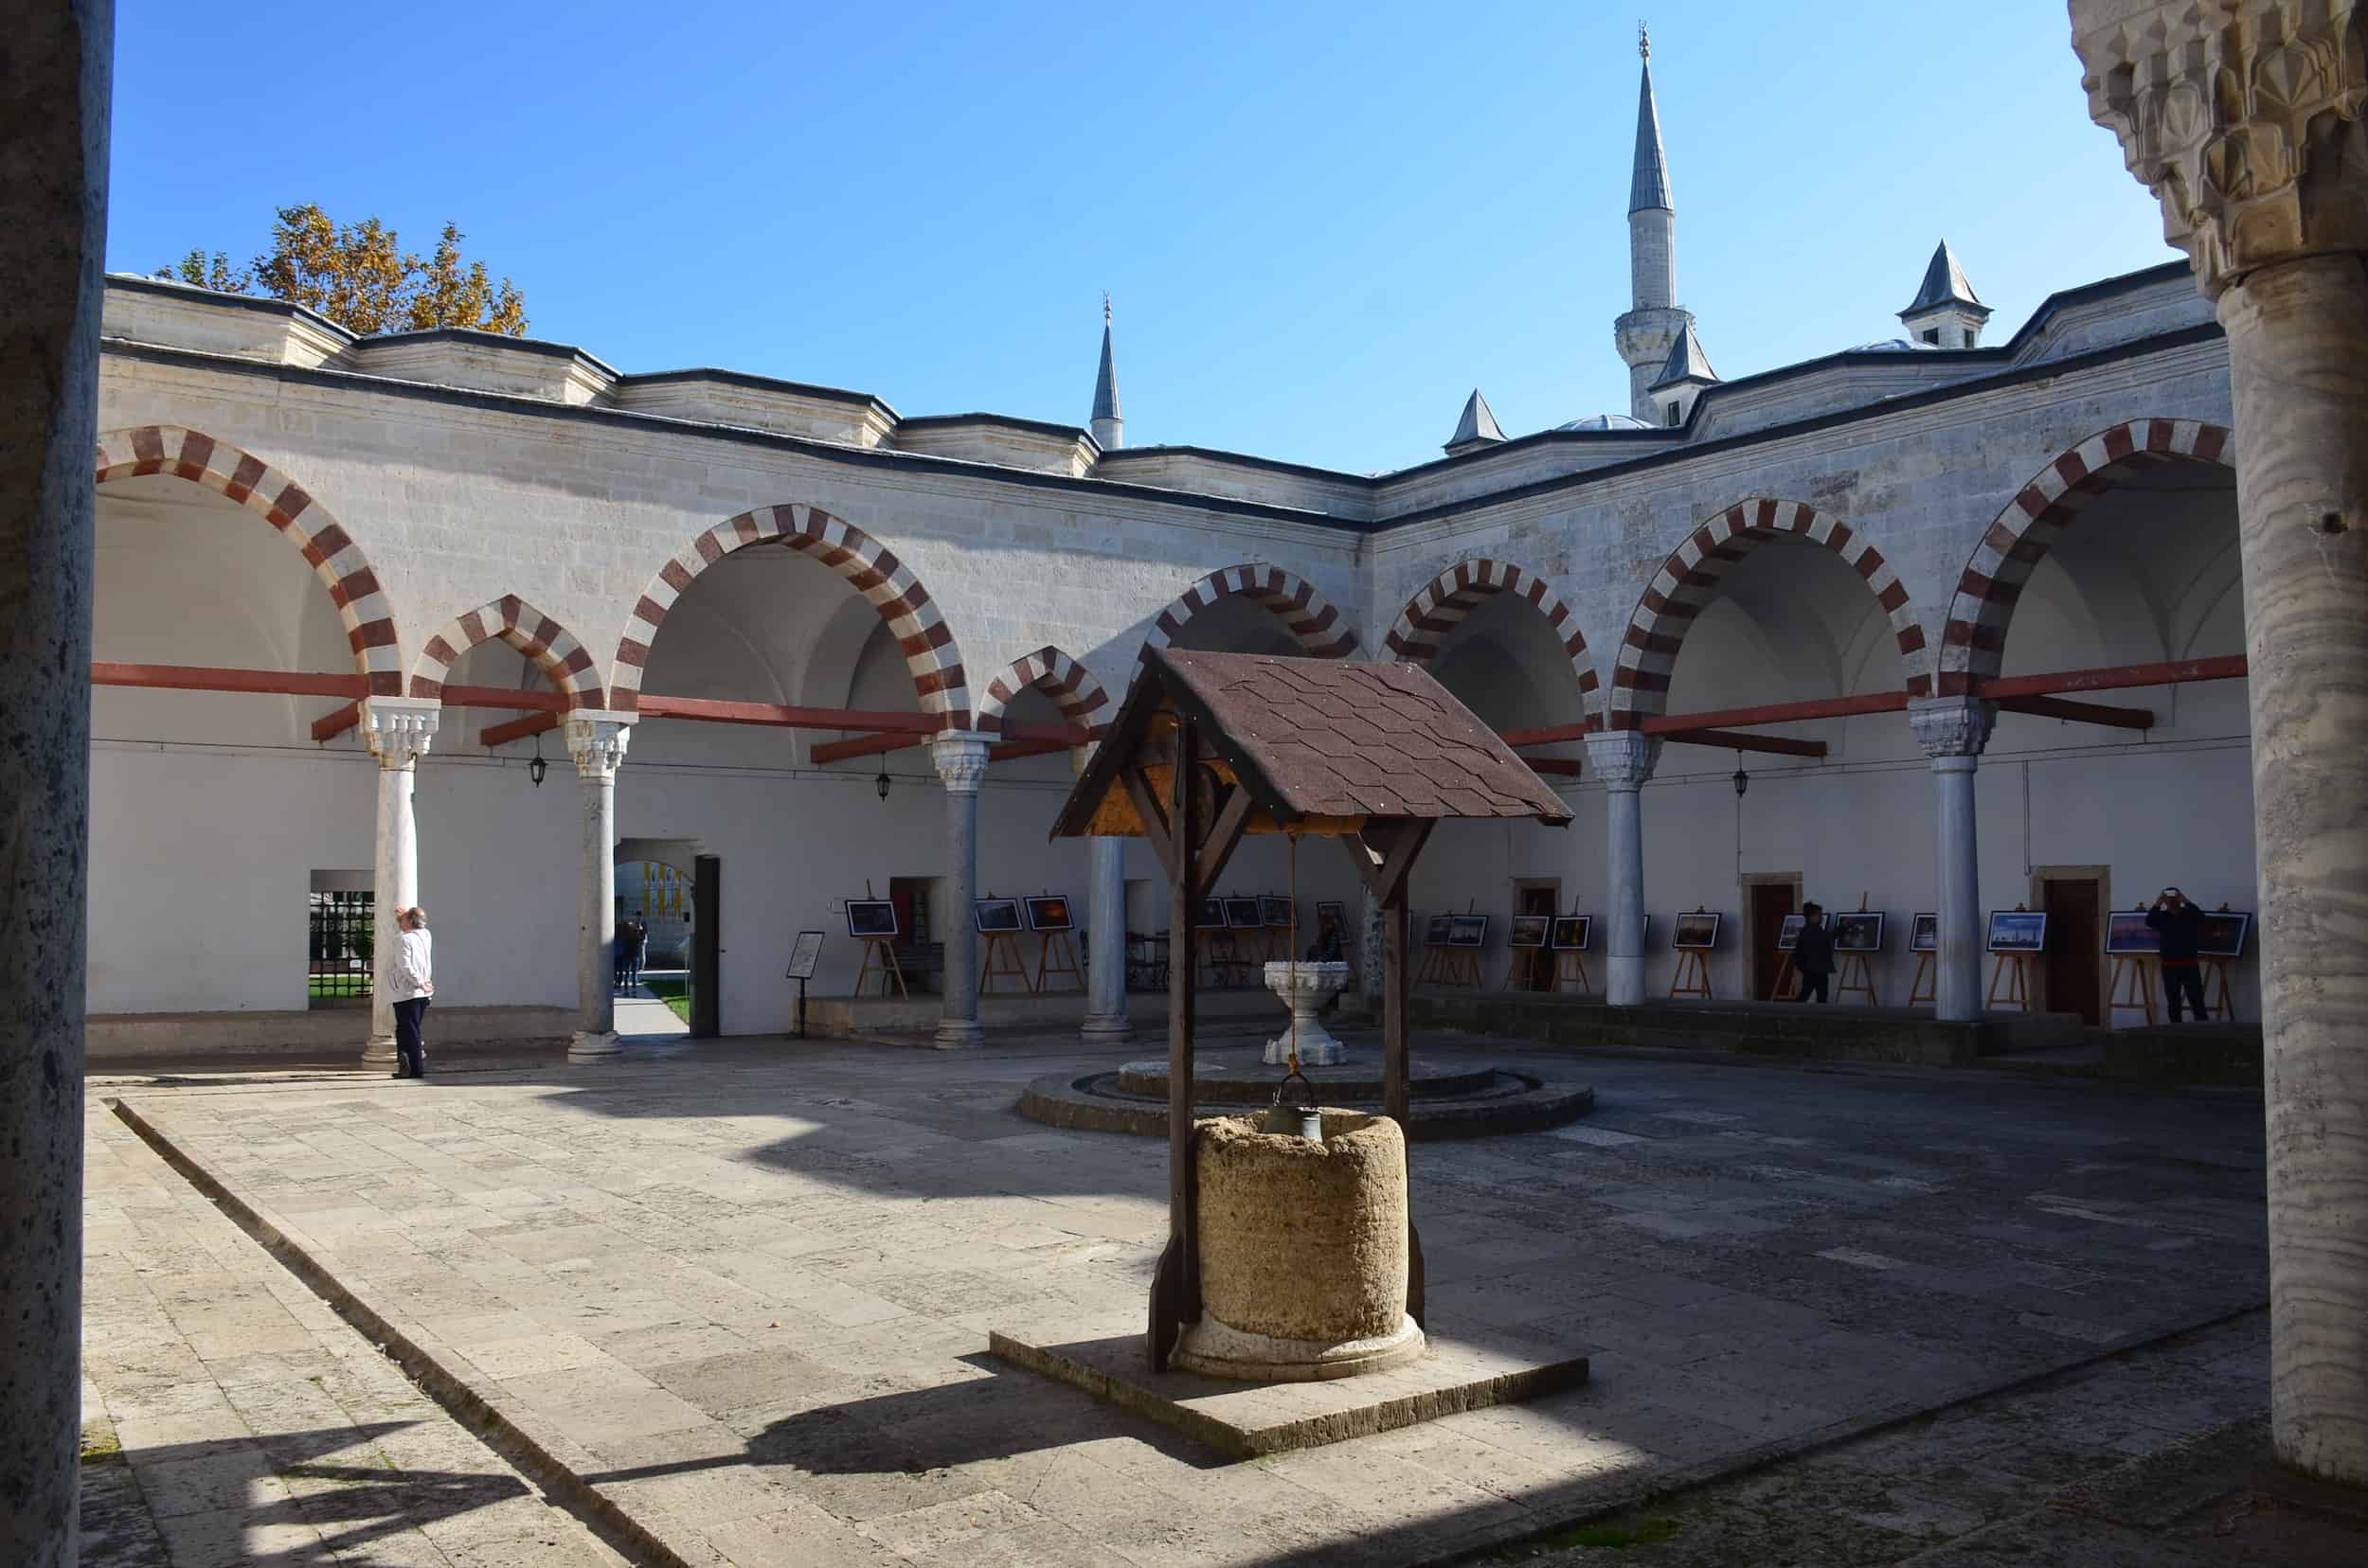
[[[2089,118],[2162,201],[2209,298],[2245,272],[2368,251],[2356,0],[2072,0]]]

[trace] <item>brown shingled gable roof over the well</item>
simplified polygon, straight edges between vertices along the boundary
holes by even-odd
[[[1054,836],[1144,831],[1122,772],[1167,772],[1163,713],[1189,715],[1203,748],[1250,791],[1250,831],[1354,831],[1366,817],[1570,822],[1537,772],[1421,666],[1151,649]]]

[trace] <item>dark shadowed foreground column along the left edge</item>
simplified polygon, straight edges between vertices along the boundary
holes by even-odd
[[[71,1568],[81,1480],[90,452],[114,7],[0,47],[0,1563]]]

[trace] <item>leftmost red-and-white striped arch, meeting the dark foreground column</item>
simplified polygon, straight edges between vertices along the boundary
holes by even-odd
[[[339,621],[346,623],[353,663],[369,682],[369,694],[403,694],[403,651],[395,640],[395,616],[379,587],[379,573],[372,571],[353,535],[294,478],[253,452],[242,452],[227,441],[180,424],[107,431],[97,443],[95,474],[102,486],[140,474],[187,478],[277,528],[313,564],[313,576],[327,585]]]

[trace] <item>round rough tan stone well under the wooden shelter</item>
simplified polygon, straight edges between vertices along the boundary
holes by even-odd
[[[1248,1116],[1198,1132],[1201,1322],[1172,1367],[1305,1383],[1423,1355],[1407,1317],[1407,1139],[1385,1116],[1324,1111],[1324,1142]]]

